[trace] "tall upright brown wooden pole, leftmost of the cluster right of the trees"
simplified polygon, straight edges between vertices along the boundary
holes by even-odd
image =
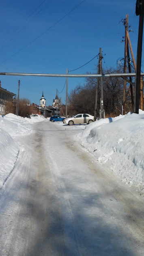
[[[123,73],[127,73],[127,27],[128,27],[128,14],[126,15],[125,22],[125,62]],[[126,95],[126,81],[124,80],[124,88],[123,88],[123,113],[125,115],[125,95]]]

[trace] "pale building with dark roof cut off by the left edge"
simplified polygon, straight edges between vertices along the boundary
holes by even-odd
[[[5,108],[8,102],[13,101],[13,96],[16,94],[9,92],[8,90],[1,87],[0,81],[0,114],[5,115]]]

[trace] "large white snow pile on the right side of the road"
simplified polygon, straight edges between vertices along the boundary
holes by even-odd
[[[144,192],[144,111],[96,121],[77,138],[130,186]]]

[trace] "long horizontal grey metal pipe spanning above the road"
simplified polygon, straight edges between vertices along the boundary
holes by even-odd
[[[72,75],[72,74],[32,74],[32,73],[9,73],[0,72],[0,75],[24,75],[24,76],[46,76],[46,77],[121,77],[135,76],[135,73],[111,73],[111,74],[89,74],[89,75]],[[144,76],[144,73],[141,73]]]

